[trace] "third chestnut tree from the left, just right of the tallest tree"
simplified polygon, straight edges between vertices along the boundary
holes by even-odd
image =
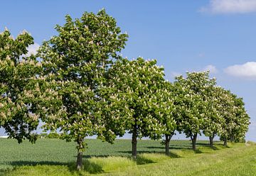
[[[162,134],[164,110],[166,116],[171,116],[166,109],[169,104],[164,105],[164,100],[168,99],[164,69],[156,66],[156,60],[123,59],[112,65],[110,77],[112,97],[123,102],[121,110],[127,114],[119,119],[122,125],[117,131],[132,133],[132,157],[137,158],[137,138]]]

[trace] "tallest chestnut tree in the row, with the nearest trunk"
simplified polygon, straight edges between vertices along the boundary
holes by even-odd
[[[38,50],[43,59],[41,79],[46,87],[42,97],[55,96],[54,104],[41,99],[41,111],[46,114],[46,129],[60,128],[62,138],[78,143],[77,168],[81,170],[84,139],[106,132],[102,117],[105,99],[100,96],[100,89],[105,85],[107,69],[124,48],[127,34],[121,33],[104,9],[97,14],[85,12],[74,21],[66,16],[65,24],[55,29],[58,35]]]

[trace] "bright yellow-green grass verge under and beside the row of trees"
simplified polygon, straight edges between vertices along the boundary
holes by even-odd
[[[144,143],[144,141],[140,142]],[[214,150],[205,146],[206,143],[201,143],[195,153],[188,149],[189,142],[177,141],[176,145],[173,142],[171,155],[166,156],[161,153],[163,152],[161,145],[154,142],[146,141],[140,146],[141,153],[136,162],[127,156],[127,153],[123,153],[122,156],[107,156],[110,151],[105,148],[95,157],[85,158],[85,170],[81,172],[75,171],[73,161],[62,164],[63,160],[58,158],[56,159],[58,163],[52,161],[52,163],[39,162],[36,165],[26,165],[26,163],[14,165],[4,169],[2,175],[256,175],[256,145],[254,143],[230,144],[230,148],[224,148],[223,145],[215,143]],[[51,141],[51,143],[53,145],[55,142]],[[118,141],[118,143],[112,145],[112,151],[119,151],[120,146],[127,145],[127,141]],[[146,148],[154,150],[145,152]],[[158,152],[160,149],[161,152]],[[3,165],[0,166],[3,168]]]

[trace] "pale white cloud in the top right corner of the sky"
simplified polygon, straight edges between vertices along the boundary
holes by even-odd
[[[201,12],[209,13],[250,13],[256,12],[256,0],[210,0]]]

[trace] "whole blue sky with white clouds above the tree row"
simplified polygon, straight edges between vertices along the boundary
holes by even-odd
[[[122,55],[156,59],[171,81],[186,71],[210,70],[220,86],[243,97],[251,116],[247,140],[256,141],[256,1],[2,1],[0,31],[24,29],[37,45],[57,33],[65,15],[105,8],[129,40]],[[36,48],[31,47],[30,50]]]

